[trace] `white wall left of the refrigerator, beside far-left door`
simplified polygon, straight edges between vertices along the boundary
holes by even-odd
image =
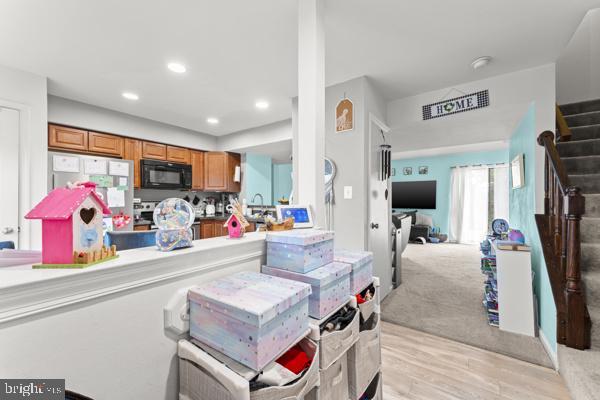
[[[0,66],[0,106],[21,112],[19,137],[19,219],[21,248],[41,247],[41,224],[23,216],[45,195],[47,185],[46,78]],[[0,189],[1,190],[1,189]]]

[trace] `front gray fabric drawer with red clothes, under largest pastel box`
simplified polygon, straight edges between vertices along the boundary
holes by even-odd
[[[248,380],[229,369],[199,347],[180,340],[179,400],[302,400],[319,385],[319,347],[308,338],[300,341],[313,356],[311,366],[296,382],[250,391]]]

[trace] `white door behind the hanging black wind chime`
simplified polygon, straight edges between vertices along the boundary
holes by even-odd
[[[373,275],[381,282],[381,300],[392,290],[392,231],[389,179],[379,180],[379,145],[384,144],[381,131],[389,130],[382,123],[370,122],[369,128],[369,219],[367,236],[373,252]]]

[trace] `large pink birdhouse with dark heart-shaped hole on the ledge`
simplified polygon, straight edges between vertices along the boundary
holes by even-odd
[[[42,220],[42,264],[76,264],[74,254],[97,261],[105,251],[102,218],[110,209],[95,189],[92,182],[56,188],[25,216]]]

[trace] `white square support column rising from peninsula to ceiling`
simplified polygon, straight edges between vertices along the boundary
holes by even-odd
[[[325,0],[298,0],[298,112],[293,118],[294,203],[325,226]]]

